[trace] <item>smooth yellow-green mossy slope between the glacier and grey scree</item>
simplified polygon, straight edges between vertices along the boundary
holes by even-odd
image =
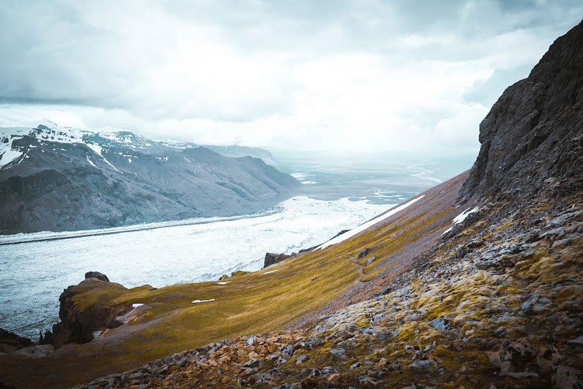
[[[331,311],[350,297],[379,290],[436,242],[459,213],[453,200],[465,178],[461,174],[428,190],[423,199],[354,238],[230,278],[226,285],[213,281],[151,290],[86,281],[74,297],[81,308],[96,301],[151,308],[130,324],[87,345],[62,347],[51,358],[0,357],[0,376],[18,388],[67,387],[223,338],[282,329],[302,318],[299,323],[307,324],[310,313],[322,307]],[[364,247],[373,251],[359,260]],[[371,256],[377,259],[364,267]],[[195,299],[214,301],[192,304]]]

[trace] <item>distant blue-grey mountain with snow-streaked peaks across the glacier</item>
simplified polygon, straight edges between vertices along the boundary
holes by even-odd
[[[253,213],[298,181],[259,158],[40,124],[0,129],[0,233]]]

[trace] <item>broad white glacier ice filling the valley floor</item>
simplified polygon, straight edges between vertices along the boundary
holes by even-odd
[[[235,270],[260,270],[268,251],[291,254],[319,245],[389,207],[298,196],[244,217],[0,235],[0,327],[36,338],[58,320],[62,289],[90,270],[128,288],[218,281]]]

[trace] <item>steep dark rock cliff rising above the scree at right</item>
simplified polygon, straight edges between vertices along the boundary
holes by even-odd
[[[583,22],[557,38],[528,78],[480,124],[482,147],[460,199],[583,188]]]

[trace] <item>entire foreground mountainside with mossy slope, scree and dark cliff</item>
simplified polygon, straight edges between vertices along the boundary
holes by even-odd
[[[470,172],[257,272],[158,289],[87,273],[35,346],[3,334],[17,351],[0,355],[0,376],[19,388],[582,388],[582,34],[583,22],[493,106]]]

